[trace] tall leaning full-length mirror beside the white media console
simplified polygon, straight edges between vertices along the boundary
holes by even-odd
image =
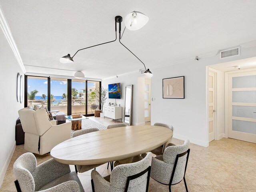
[[[124,122],[128,125],[132,124],[132,92],[133,85],[125,87]]]

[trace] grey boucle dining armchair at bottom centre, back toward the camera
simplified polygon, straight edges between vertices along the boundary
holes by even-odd
[[[141,161],[116,166],[109,176],[102,177],[92,170],[93,192],[147,192],[150,178],[152,153]]]

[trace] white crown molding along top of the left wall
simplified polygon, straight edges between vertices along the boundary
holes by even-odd
[[[10,30],[8,22],[6,21],[6,18],[4,16],[4,13],[3,13],[1,7],[0,7],[0,28],[1,28],[5,38],[7,40],[7,42],[9,43],[10,47],[12,48],[14,56],[16,57],[18,63],[20,64],[20,68],[22,69],[22,71],[24,73],[26,73],[26,69],[25,69],[24,64],[22,62],[22,59],[20,57],[20,52],[19,52],[19,50],[16,46],[16,43],[15,43],[13,37],[12,37],[12,32]]]

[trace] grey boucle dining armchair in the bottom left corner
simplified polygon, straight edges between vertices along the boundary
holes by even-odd
[[[32,153],[21,155],[13,165],[18,192],[84,192],[76,172],[69,165],[50,159],[36,166]]]

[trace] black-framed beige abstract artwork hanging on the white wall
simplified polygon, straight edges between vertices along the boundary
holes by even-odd
[[[163,79],[163,98],[165,99],[184,99],[185,84],[184,76]]]

